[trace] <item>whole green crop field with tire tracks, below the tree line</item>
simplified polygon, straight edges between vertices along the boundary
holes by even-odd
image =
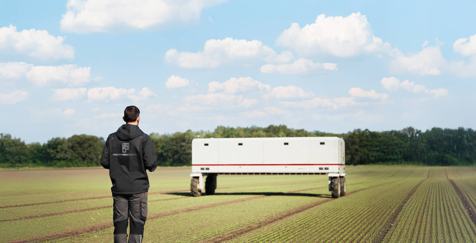
[[[149,173],[145,243],[476,242],[474,167],[347,166],[323,175],[219,175],[189,196],[189,167]],[[108,171],[0,171],[0,242],[112,242]],[[205,194],[205,193],[204,193]]]

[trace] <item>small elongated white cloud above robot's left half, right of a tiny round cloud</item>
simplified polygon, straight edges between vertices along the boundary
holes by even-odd
[[[208,92],[225,92],[229,94],[244,93],[244,92],[269,92],[271,85],[263,84],[260,81],[253,80],[251,77],[230,78],[229,80],[220,83],[213,81],[208,83]]]

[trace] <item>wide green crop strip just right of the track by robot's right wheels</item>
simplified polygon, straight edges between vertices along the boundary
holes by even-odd
[[[319,205],[232,242],[358,242],[379,233],[381,222],[413,182],[392,182]],[[385,182],[385,180],[382,180]],[[387,190],[392,186],[395,190]],[[409,189],[408,189],[409,188]],[[385,199],[385,203],[382,200]],[[306,227],[303,227],[303,226]]]

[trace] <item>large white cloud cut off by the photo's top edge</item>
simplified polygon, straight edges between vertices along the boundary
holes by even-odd
[[[224,0],[69,0],[61,29],[86,33],[124,27],[146,29],[170,20],[199,20],[204,8]]]

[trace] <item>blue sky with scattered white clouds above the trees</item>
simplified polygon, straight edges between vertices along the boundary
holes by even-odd
[[[0,132],[476,128],[475,1],[0,0]]]

